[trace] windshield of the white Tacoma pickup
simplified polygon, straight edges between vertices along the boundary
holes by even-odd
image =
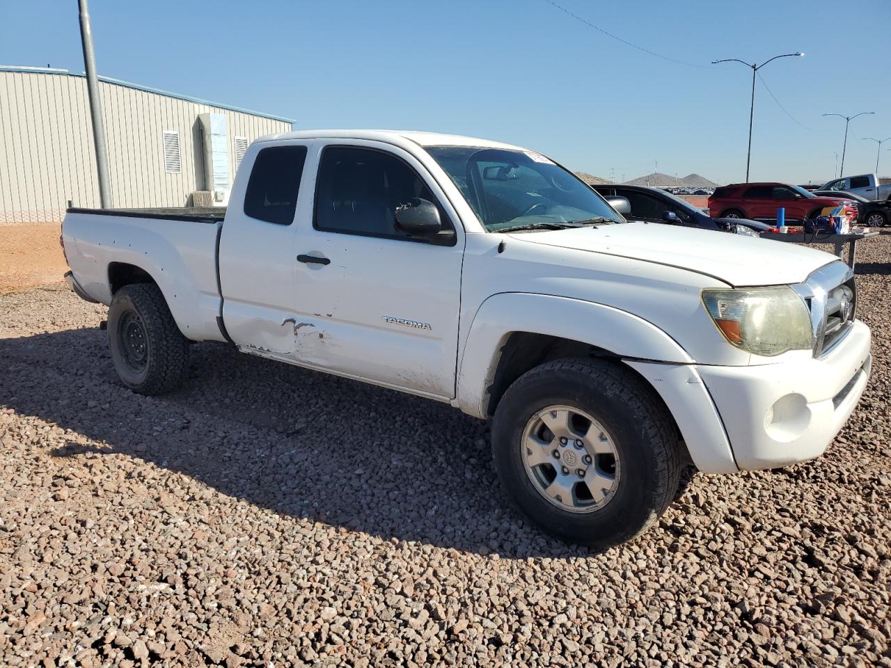
[[[576,175],[533,151],[432,146],[427,152],[489,232],[625,222]]]

